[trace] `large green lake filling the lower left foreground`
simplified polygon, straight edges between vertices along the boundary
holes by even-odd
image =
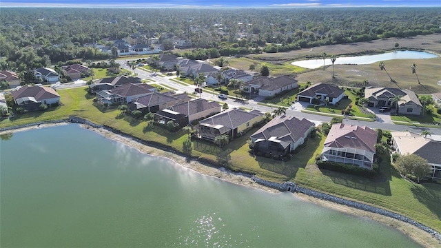
[[[373,220],[203,176],[79,125],[0,145],[2,247],[419,247]]]

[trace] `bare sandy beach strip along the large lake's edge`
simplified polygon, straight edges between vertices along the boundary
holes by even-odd
[[[38,129],[38,128],[42,128],[42,127],[51,127],[51,126],[56,126],[56,125],[67,125],[67,124],[68,123],[35,125],[35,126],[31,126],[31,127],[19,128],[17,130],[9,130],[6,132],[0,132],[0,135],[11,133],[11,132],[23,132],[26,130],[33,130],[33,129]],[[223,169],[223,168],[210,167],[210,166],[198,163],[197,161],[194,161],[194,160],[186,161],[186,159],[183,156],[179,156],[178,154],[174,154],[172,152],[166,152],[166,151],[163,151],[162,149],[143,145],[141,143],[134,141],[132,138],[126,138],[126,137],[121,136],[119,134],[114,134],[113,132],[110,132],[110,131],[105,130],[103,128],[94,128],[94,127],[90,127],[88,125],[81,125],[81,127],[86,128],[88,130],[92,130],[98,134],[101,134],[102,136],[105,136],[106,138],[111,138],[114,141],[118,141],[118,142],[121,142],[125,145],[129,145],[130,147],[138,149],[140,152],[143,152],[144,154],[150,154],[150,155],[154,155],[154,156],[163,156],[166,158],[170,158],[175,163],[178,163],[179,165],[181,165],[183,167],[187,167],[189,169],[194,170],[195,172],[204,174],[206,176],[214,176],[216,178],[220,178],[221,180],[225,180],[229,183],[236,183],[238,185],[243,185],[245,187],[253,187],[253,188],[265,190],[267,192],[271,192],[274,194],[279,193],[279,191],[276,189],[272,189],[269,187],[265,187],[263,185],[259,185],[258,183],[255,183],[251,178],[249,178],[248,176],[243,176],[243,174],[230,172],[230,171]],[[337,210],[337,211],[342,211],[347,214],[353,214],[355,216],[361,216],[364,218],[369,218],[371,220],[376,220],[379,223],[382,223],[382,224],[387,225],[389,227],[393,227],[393,228],[398,229],[403,234],[409,236],[410,238],[412,238],[413,240],[415,240],[416,242],[418,242],[420,245],[422,245],[424,247],[441,247],[440,242],[438,240],[436,240],[435,238],[433,238],[431,236],[431,234],[427,233],[426,231],[422,231],[421,229],[418,229],[417,227],[415,227],[411,224],[404,223],[400,220],[396,220],[394,218],[382,216],[380,214],[373,214],[369,211],[362,211],[360,209],[347,207],[345,205],[331,203],[327,200],[321,200],[321,199],[314,198],[312,196],[307,196],[304,194],[296,193],[296,196],[298,196],[302,200],[307,200],[307,201],[310,201],[311,203],[322,205],[324,207],[329,207],[329,208]]]

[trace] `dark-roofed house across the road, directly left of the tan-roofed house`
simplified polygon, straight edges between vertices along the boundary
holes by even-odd
[[[345,90],[327,83],[316,83],[297,94],[297,101],[312,103],[313,99],[327,100],[335,105],[345,96]]]

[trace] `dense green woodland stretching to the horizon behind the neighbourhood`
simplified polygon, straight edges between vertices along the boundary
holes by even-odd
[[[440,8],[116,9],[4,8],[0,70],[109,59],[85,43],[134,34],[191,41],[188,59],[286,52],[318,45],[441,32]]]

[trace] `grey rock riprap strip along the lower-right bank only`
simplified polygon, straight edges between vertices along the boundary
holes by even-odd
[[[419,229],[421,229],[423,231],[426,231],[427,233],[431,234],[431,236],[433,236],[433,238],[436,238],[438,241],[441,242],[441,234],[438,231],[435,231],[435,230],[431,229],[430,227],[422,225],[421,223],[418,223],[417,221],[412,220],[411,218],[407,218],[405,216],[402,216],[401,214],[396,214],[393,211],[380,209],[379,207],[373,207],[373,206],[370,206],[370,205],[367,205],[364,203],[357,203],[356,201],[353,201],[353,200],[346,200],[346,199],[343,199],[343,198],[340,198],[337,196],[331,196],[329,194],[325,194],[322,192],[316,192],[315,190],[312,190],[312,189],[306,189],[304,187],[300,187],[292,182],[274,183],[274,182],[270,182],[268,180],[260,179],[256,176],[253,176],[252,180],[254,180],[254,182],[256,182],[260,185],[264,185],[266,187],[271,187],[273,189],[278,189],[281,192],[285,192],[285,191],[298,192],[298,193],[305,194],[307,196],[313,196],[315,198],[319,198],[321,200],[328,200],[332,203],[338,203],[338,204],[345,205],[348,207],[353,207],[356,209],[369,211],[374,214],[381,214],[382,216],[387,216],[390,218],[394,218],[396,220],[401,220],[404,223],[409,223],[411,225],[418,227]]]

